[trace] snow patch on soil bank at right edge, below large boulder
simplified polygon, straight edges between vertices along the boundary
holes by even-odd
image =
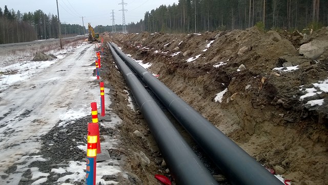
[[[320,95],[322,92],[326,92],[328,93],[328,79],[325,79],[324,81],[318,81],[317,83],[312,84],[314,87],[313,88],[302,88],[300,91],[302,91],[303,93],[305,93],[304,95],[300,96],[300,100],[304,100],[305,98],[308,97],[313,97],[315,98],[316,95]],[[310,105],[311,107],[313,106],[322,106],[324,104],[324,99],[313,99],[309,100],[308,102],[306,102],[305,105]],[[317,96],[317,98],[319,98],[319,96]]]

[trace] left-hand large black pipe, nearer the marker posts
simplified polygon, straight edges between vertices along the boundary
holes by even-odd
[[[177,184],[218,184],[129,67],[108,44]]]

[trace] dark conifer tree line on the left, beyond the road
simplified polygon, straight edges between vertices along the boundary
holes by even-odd
[[[0,44],[29,42],[38,39],[59,38],[58,17],[42,10],[21,13],[0,7]],[[84,34],[84,27],[61,24],[63,36]],[[86,32],[87,33],[87,32]]]

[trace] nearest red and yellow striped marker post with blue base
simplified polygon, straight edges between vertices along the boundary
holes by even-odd
[[[87,174],[86,184],[96,184],[96,158],[97,158],[97,140],[99,133],[98,124],[88,124],[88,146],[87,146]]]

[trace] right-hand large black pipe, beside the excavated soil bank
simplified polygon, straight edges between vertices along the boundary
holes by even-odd
[[[162,104],[190,133],[232,184],[283,184],[234,141],[214,127],[211,122],[163,85],[156,77],[125,55],[115,45],[113,46],[121,58],[124,58],[128,65],[145,81]]]

